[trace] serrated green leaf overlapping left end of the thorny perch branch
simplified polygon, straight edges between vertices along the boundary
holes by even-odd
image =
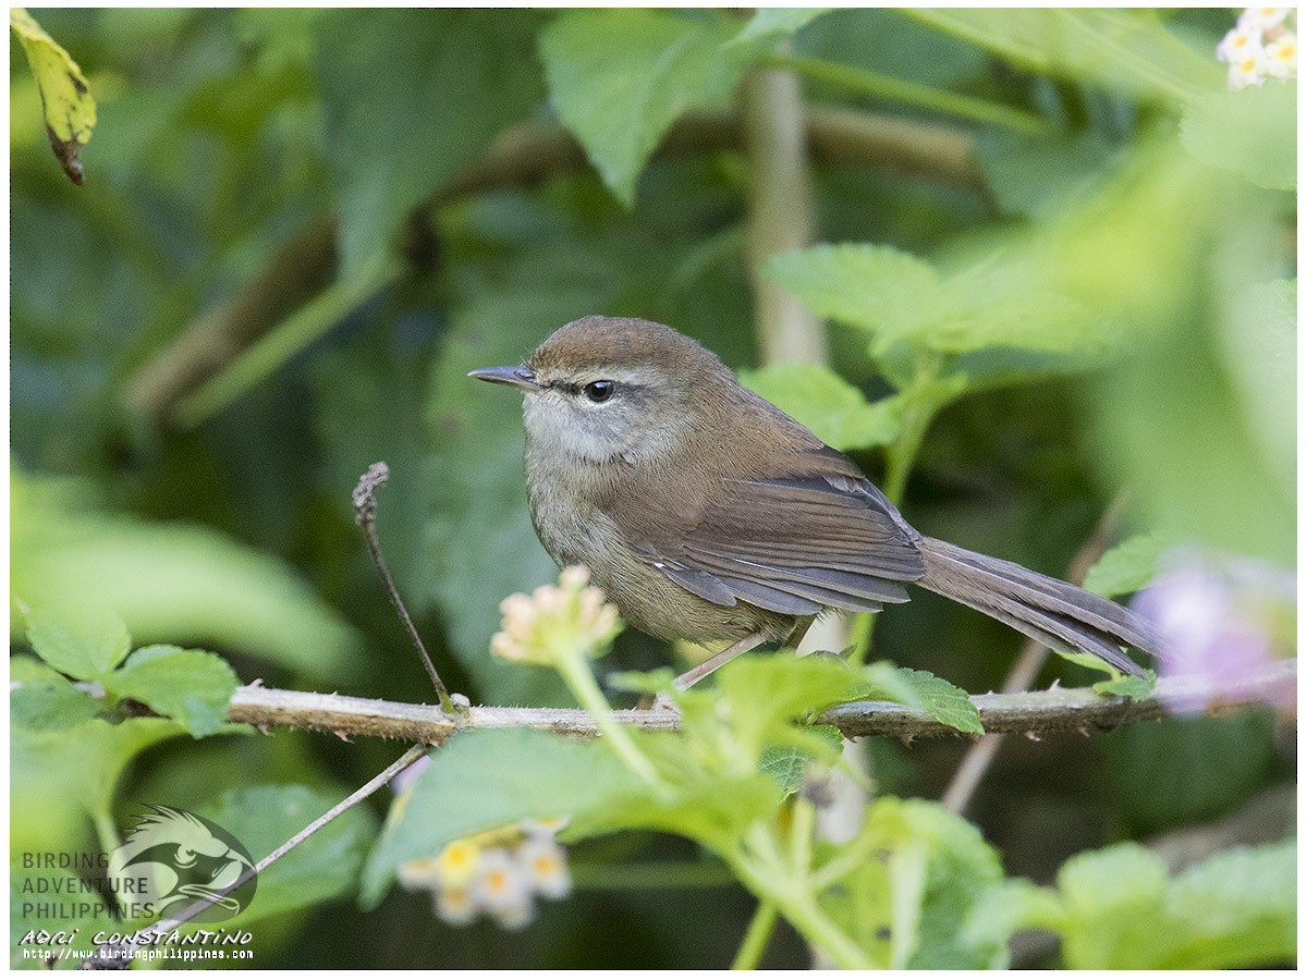
[[[161,645],[137,651],[122,670],[106,674],[102,683],[106,691],[148,704],[203,738],[227,720],[238,681],[235,672],[214,653]]]

